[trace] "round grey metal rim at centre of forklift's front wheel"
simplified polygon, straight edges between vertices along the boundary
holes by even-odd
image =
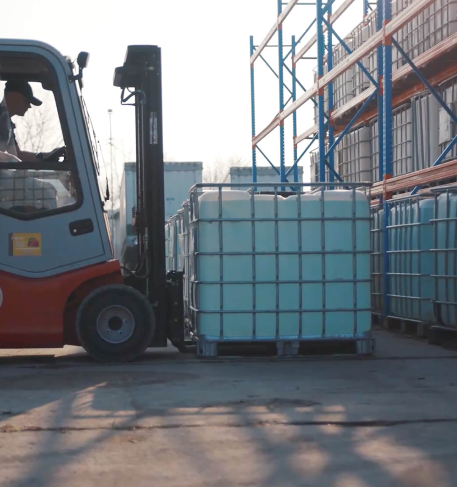
[[[107,306],[97,318],[98,335],[108,343],[123,343],[133,335],[135,318],[124,306]]]

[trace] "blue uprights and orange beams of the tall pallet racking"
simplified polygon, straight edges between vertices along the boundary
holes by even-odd
[[[445,145],[441,153],[430,165],[415,172],[406,172],[394,177],[392,160],[392,119],[393,111],[414,96],[428,91],[438,102],[439,106],[446,112],[450,120],[457,126],[457,116],[453,110],[444,102],[437,91],[437,86],[445,80],[457,75],[457,32],[437,41],[428,49],[415,49],[414,58],[411,51],[409,54],[400,45],[394,36],[400,33],[405,26],[418,25],[420,16],[424,18],[427,9],[432,8],[437,0],[413,0],[403,8],[396,9],[393,13],[394,2],[390,0],[376,0],[371,3],[363,0],[363,20],[368,22],[369,18],[375,17],[372,22],[375,26],[371,35],[353,50],[348,43],[336,32],[333,24],[339,19],[354,0],[315,0],[314,2],[303,2],[290,0],[284,4],[277,0],[277,17],[267,36],[255,45],[254,39],[250,37],[250,73],[251,73],[251,113],[252,113],[252,174],[256,182],[256,156],[257,151],[266,158],[266,154],[260,149],[259,143],[275,129],[279,128],[280,161],[279,168],[267,158],[267,161],[274,167],[281,182],[289,182],[290,173],[293,172],[294,181],[297,181],[297,164],[304,154],[317,141],[319,145],[319,180],[325,180],[325,173],[328,174],[328,181],[343,181],[341,175],[335,168],[335,148],[342,142],[343,137],[352,129],[361,124],[366,124],[377,116],[377,160],[378,169],[376,180],[373,180],[371,197],[373,205],[386,205],[386,202],[395,194],[408,191],[411,195],[418,193],[421,188],[455,180],[457,176],[457,159],[445,161],[448,154],[457,142],[457,131]],[[440,0],[442,3],[444,0]],[[338,7],[336,5],[339,3]],[[397,3],[395,3],[397,5]],[[299,8],[313,7],[314,13],[309,26],[298,38],[291,38],[290,49],[284,55],[283,23]],[[336,7],[336,8],[335,8]],[[373,8],[375,7],[375,8]],[[300,7],[301,8],[301,7]],[[376,15],[374,12],[376,10]],[[394,15],[393,15],[394,14]],[[437,16],[435,16],[437,18]],[[412,24],[413,23],[413,24]],[[301,46],[302,39],[315,30],[312,37],[307,39]],[[416,29],[417,30],[417,29]],[[270,40],[277,34],[278,43],[278,72],[267,63],[262,52],[269,46]],[[413,34],[417,38],[417,32]],[[397,36],[397,37],[399,37]],[[325,38],[326,37],[326,38]],[[317,48],[317,75],[316,80],[309,89],[305,89],[296,76],[297,63],[309,57],[306,54],[311,48]],[[342,49],[347,53],[338,64],[333,66],[334,51]],[[364,58],[373,56],[376,53],[375,61],[372,61],[371,70],[364,65]],[[396,69],[393,70],[392,56],[394,63],[399,60]],[[291,67],[286,63],[290,56]],[[341,56],[340,56],[341,57]],[[372,57],[372,59],[374,56]],[[268,67],[275,73],[279,80],[279,112],[265,127],[256,132],[255,123],[255,86],[254,86],[254,65],[255,61],[263,59]],[[400,62],[401,60],[401,62]],[[369,86],[355,93],[347,102],[338,104],[334,108],[334,83],[337,78],[345,73],[352,66],[357,66],[360,75],[369,80]],[[292,76],[292,90],[289,100],[284,102],[284,73]],[[373,75],[372,75],[373,74]],[[297,96],[297,85],[304,93]],[[286,88],[287,89],[287,88]],[[448,100],[449,101],[449,100]],[[456,100],[451,100],[456,101]],[[313,103],[317,108],[317,123],[302,133],[297,133],[297,111],[306,102]],[[309,106],[308,103],[308,106]],[[284,124],[286,119],[292,115],[293,125],[293,147],[294,156],[290,169],[286,171],[285,161],[285,140]],[[306,142],[306,144],[302,144]],[[299,145],[305,148],[298,155]],[[300,147],[302,149],[302,147]],[[445,161],[445,162],[443,162]],[[387,206],[384,206],[384,252],[383,262],[383,293],[384,311],[388,310],[388,236],[387,236]]]

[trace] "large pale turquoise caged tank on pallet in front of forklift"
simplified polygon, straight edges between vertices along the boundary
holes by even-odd
[[[370,221],[355,189],[191,193],[184,293],[198,353],[224,340],[355,338],[369,349]]]

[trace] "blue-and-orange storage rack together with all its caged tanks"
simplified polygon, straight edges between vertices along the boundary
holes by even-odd
[[[418,331],[457,329],[457,1],[364,0],[360,23],[341,36],[334,24],[351,3],[278,0],[267,37],[258,45],[250,38],[253,168],[257,151],[264,154],[259,144],[279,132],[287,176],[291,118],[292,167],[310,151],[312,181],[372,183],[373,314],[383,323],[420,324]],[[306,18],[305,9],[310,26],[286,46],[286,19]],[[276,70],[267,47],[277,49]],[[316,59],[311,48],[317,68],[304,87],[297,70]],[[279,112],[256,130],[260,59],[278,77]],[[314,125],[297,133],[302,106],[313,109]]]

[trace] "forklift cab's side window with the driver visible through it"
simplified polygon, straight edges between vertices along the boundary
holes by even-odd
[[[0,76],[0,211],[36,218],[71,209],[81,194],[52,68],[0,56]]]

